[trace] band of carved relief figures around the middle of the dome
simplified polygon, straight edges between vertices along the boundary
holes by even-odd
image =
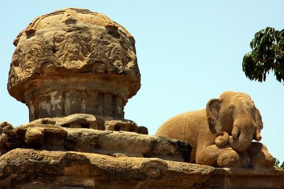
[[[89,71],[97,74],[121,74],[128,69],[137,69],[133,47],[118,30],[114,31],[113,37],[114,34],[104,28],[86,31],[68,26],[59,29],[36,33],[32,37],[36,40],[28,39],[18,44],[11,62],[11,84],[35,72],[40,74],[47,62],[65,69],[92,67]]]

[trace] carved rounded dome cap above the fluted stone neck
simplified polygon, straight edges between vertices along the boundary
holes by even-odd
[[[140,88],[132,35],[102,14],[67,8],[40,16],[14,45],[8,89],[18,101],[26,102],[26,89],[40,79],[80,79],[81,74],[104,85],[103,75],[111,74],[126,82],[129,98]]]

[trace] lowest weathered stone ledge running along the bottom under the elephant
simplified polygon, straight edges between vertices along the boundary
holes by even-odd
[[[0,156],[1,188],[283,188],[284,171],[213,168],[162,159],[13,149]]]

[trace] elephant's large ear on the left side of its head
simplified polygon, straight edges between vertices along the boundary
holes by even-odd
[[[219,120],[219,111],[221,108],[222,100],[217,98],[211,99],[206,105],[206,113],[211,132],[217,135],[222,132],[222,125]]]

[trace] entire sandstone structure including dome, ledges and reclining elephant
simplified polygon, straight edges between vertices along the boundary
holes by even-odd
[[[178,115],[158,136],[124,119],[141,86],[135,40],[102,13],[39,16],[13,44],[8,90],[30,122],[0,122],[0,188],[284,188],[284,171],[251,142],[263,123],[244,93]]]

